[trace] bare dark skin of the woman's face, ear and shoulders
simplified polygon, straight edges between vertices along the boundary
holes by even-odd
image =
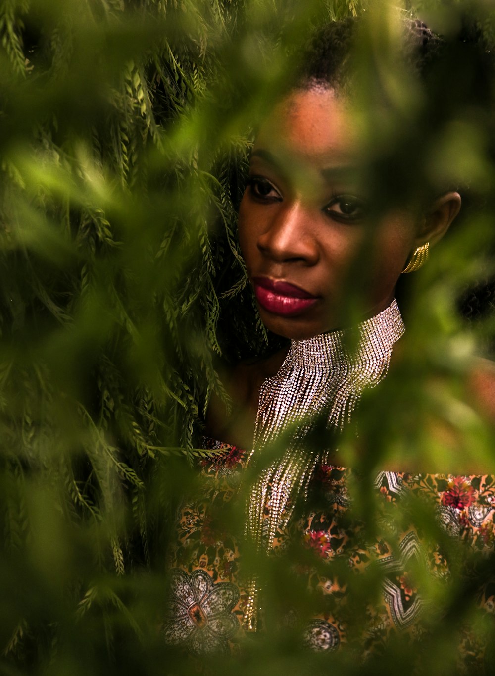
[[[371,220],[369,196],[361,195],[355,179],[362,143],[349,101],[330,87],[293,91],[259,130],[240,206],[239,239],[249,279],[261,299],[261,319],[273,333],[305,339],[348,325],[346,309],[355,293],[357,272],[359,320],[381,312],[394,297],[411,252],[427,241],[435,245],[459,213],[459,193],[448,192],[426,211],[404,206]],[[357,260],[363,260],[363,247],[367,266],[355,270]],[[269,296],[272,302],[265,304],[268,292],[263,285],[278,281],[293,286],[296,295],[301,289],[301,295],[310,297],[309,306],[303,300],[301,312],[296,305],[295,313],[286,314],[285,291],[279,298],[277,290]],[[286,349],[234,369],[226,379],[234,414],[227,418],[219,402],[212,402],[209,435],[251,448],[259,387],[276,374],[285,356]],[[391,368],[397,359],[400,343]],[[480,362],[469,388],[481,412],[495,419],[491,362]],[[473,473],[475,468],[464,471],[468,470]]]

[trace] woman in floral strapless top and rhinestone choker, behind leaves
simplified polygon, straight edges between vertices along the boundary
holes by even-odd
[[[370,194],[373,167],[363,166],[370,154],[355,115],[350,57],[357,30],[359,22],[343,22],[317,34],[290,91],[259,127],[251,154],[240,246],[261,319],[290,346],[238,366],[230,387],[234,414],[219,406],[209,412],[210,435],[222,443],[209,443],[217,454],[203,462],[199,496],[180,513],[163,623],[170,644],[196,654],[236,648],[241,627],[255,631],[270,604],[284,606],[280,595],[266,596],[257,565],[260,555],[280,561],[273,552],[286,550],[293,584],[308,589],[307,617],[299,612],[294,620],[307,646],[330,651],[348,642],[367,653],[396,634],[417,639],[427,621],[414,574],[421,577],[421,568],[440,579],[450,562],[414,523],[413,498],[429,504],[444,532],[473,548],[492,547],[495,488],[489,477],[466,477],[472,469],[465,467],[459,476],[426,474],[411,459],[402,471],[378,467],[373,490],[383,498],[385,525],[370,535],[363,521],[349,517],[351,484],[365,489],[341,466],[338,448],[355,439],[349,423],[363,393],[400,360],[396,283],[402,272],[419,269],[461,208],[455,190],[426,198],[403,189],[390,205]],[[405,43],[402,65],[415,78],[427,77],[440,41],[411,22]],[[490,369],[481,369],[476,383],[490,410]],[[245,523],[234,537],[228,506],[244,500]],[[394,505],[411,521],[392,523]],[[342,564],[380,580],[380,600],[367,599],[361,608],[359,635]],[[278,571],[285,575],[283,566]],[[484,608],[492,602],[482,600]],[[279,617],[291,612],[284,608]],[[484,648],[468,650],[470,641],[461,628],[461,654],[482,665]]]

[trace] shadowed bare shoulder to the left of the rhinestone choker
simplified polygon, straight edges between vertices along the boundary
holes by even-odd
[[[210,437],[241,448],[251,448],[258,409],[259,389],[276,375],[286,358],[287,348],[261,359],[243,360],[222,372],[230,410],[218,397],[212,397],[207,410],[206,431]]]

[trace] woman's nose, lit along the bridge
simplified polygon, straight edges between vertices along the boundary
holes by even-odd
[[[311,266],[319,258],[311,215],[299,203],[278,210],[259,235],[257,245],[278,263],[298,261]]]

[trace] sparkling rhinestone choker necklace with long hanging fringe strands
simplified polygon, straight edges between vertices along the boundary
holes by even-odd
[[[307,340],[290,341],[290,349],[277,375],[259,391],[253,450],[255,464],[273,443],[286,449],[259,472],[247,504],[246,536],[257,550],[269,552],[278,530],[292,514],[294,502],[307,483],[318,458],[305,448],[308,433],[321,420],[328,431],[342,431],[350,421],[361,393],[386,376],[392,347],[404,333],[396,300],[380,314],[353,329],[323,333]],[[261,461],[260,461],[261,462]],[[265,516],[265,508],[268,515]],[[249,582],[244,626],[254,630],[258,586]]]

